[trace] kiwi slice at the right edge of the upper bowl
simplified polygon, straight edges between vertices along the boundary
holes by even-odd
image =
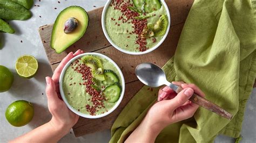
[[[166,15],[161,15],[157,22],[152,26],[154,36],[162,36],[165,34],[168,27],[168,18]]]

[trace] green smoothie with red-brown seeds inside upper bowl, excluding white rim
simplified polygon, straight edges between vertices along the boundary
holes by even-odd
[[[164,22],[154,30],[154,25],[163,19],[161,16]],[[105,28],[110,39],[130,52],[143,52],[156,46],[166,33],[167,25],[166,9],[160,2],[158,9],[145,12],[144,9],[139,11],[133,1],[113,0],[105,14]]]

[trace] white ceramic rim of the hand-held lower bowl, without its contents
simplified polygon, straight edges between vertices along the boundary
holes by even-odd
[[[103,113],[103,114],[100,114],[100,115],[96,115],[96,116],[92,116],[92,115],[87,115],[85,113],[82,113],[82,112],[79,112],[77,111],[76,109],[72,108],[72,106],[68,103],[68,101],[66,100],[66,97],[64,95],[64,91],[63,91],[63,88],[62,88],[62,84],[63,84],[63,77],[65,75],[65,71],[66,69],[70,66],[70,64],[77,60],[78,58],[82,58],[82,56],[85,56],[85,55],[95,55],[95,56],[99,56],[100,58],[104,58],[104,59],[107,59],[108,61],[110,61],[111,63],[113,63],[114,67],[117,68],[118,72],[119,72],[119,75],[121,76],[121,80],[122,80],[122,93],[117,101],[117,103],[113,106],[112,109],[110,109],[109,111]],[[80,55],[77,55],[75,56],[74,58],[72,58],[68,63],[66,63],[66,65],[64,66],[63,70],[62,70],[62,73],[60,73],[60,77],[59,77],[59,91],[60,91],[60,95],[62,96],[62,99],[63,101],[65,102],[66,106],[68,106],[68,108],[76,113],[77,115],[81,116],[81,117],[84,117],[84,118],[91,118],[91,119],[96,119],[96,118],[102,118],[104,116],[107,116],[109,115],[111,112],[113,112],[117,107],[118,105],[121,103],[123,97],[124,97],[124,90],[125,90],[125,81],[124,81],[124,75],[122,73],[122,71],[120,70],[120,68],[117,66],[117,64],[111,60],[109,57],[103,55],[103,54],[99,54],[99,53],[83,53],[83,54],[80,54]]]

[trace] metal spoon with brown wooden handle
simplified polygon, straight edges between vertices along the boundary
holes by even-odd
[[[167,81],[164,71],[153,63],[141,63],[136,67],[135,73],[139,80],[149,87],[160,87],[161,85],[167,85],[177,94],[181,90],[183,90],[183,88],[179,87],[178,85],[172,84]],[[218,105],[211,103],[207,99],[197,94],[193,94],[189,100],[227,119],[231,120],[233,117],[231,113],[228,113],[224,109],[220,108]]]

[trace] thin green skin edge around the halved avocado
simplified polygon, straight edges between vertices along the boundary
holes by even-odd
[[[1,0],[0,0],[0,1],[1,1]],[[53,34],[54,34],[54,32],[55,32],[55,28],[58,26],[58,24],[56,24],[56,22],[57,22],[58,18],[60,18],[60,17],[62,16],[62,13],[63,13],[64,11],[69,10],[69,9],[72,10],[72,8],[79,8],[79,9],[81,9],[81,10],[83,10],[83,11],[85,12],[85,14],[86,14],[86,16],[87,16],[87,26],[85,27],[85,30],[82,32],[82,34],[80,34],[76,40],[70,41],[70,44],[69,44],[68,46],[63,47],[60,51],[57,51],[57,50],[55,49],[55,47],[53,46],[53,41],[52,41],[52,37],[53,37]],[[69,6],[68,8],[65,8],[64,10],[62,10],[62,11],[59,13],[59,15],[57,16],[57,18],[56,18],[56,20],[55,20],[55,23],[54,23],[54,25],[53,25],[53,28],[52,28],[52,34],[51,34],[51,48],[52,48],[52,49],[55,49],[55,52],[58,53],[58,54],[60,54],[60,53],[62,53],[63,51],[65,51],[65,49],[69,48],[72,44],[74,44],[76,41],[78,41],[80,38],[83,37],[83,35],[84,35],[84,33],[86,32],[87,27],[88,27],[88,25],[89,25],[89,20],[90,20],[90,18],[89,18],[88,13],[87,13],[82,7],[80,7],[80,6],[73,5],[73,6]],[[59,25],[59,26],[63,26],[63,25]]]

